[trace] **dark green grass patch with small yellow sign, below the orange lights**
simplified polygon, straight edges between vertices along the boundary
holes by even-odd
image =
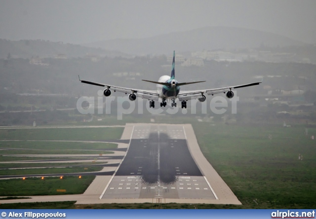
[[[71,195],[82,194],[94,180],[94,176],[78,177],[47,177],[0,180],[1,196],[34,196],[34,195]],[[19,189],[17,189],[19,188]],[[66,192],[57,192],[66,189]],[[1,205],[2,207],[2,205]]]

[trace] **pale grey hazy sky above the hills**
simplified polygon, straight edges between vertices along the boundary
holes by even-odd
[[[206,26],[316,43],[316,0],[0,0],[0,38],[87,43]]]

